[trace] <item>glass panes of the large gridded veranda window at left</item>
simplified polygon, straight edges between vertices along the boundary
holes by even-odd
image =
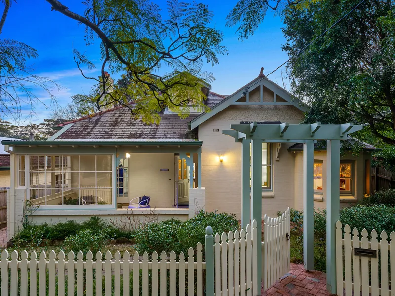
[[[112,204],[112,155],[29,155],[35,205]]]

